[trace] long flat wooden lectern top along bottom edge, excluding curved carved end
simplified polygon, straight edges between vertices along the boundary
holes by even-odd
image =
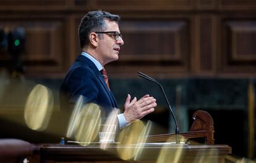
[[[126,149],[126,152],[141,146],[110,145],[101,149],[99,144],[89,146],[80,145],[41,145],[41,162],[134,162],[134,159],[124,161],[117,151]],[[215,162],[224,162],[224,156],[231,154],[232,149],[228,145],[163,145],[160,143],[146,143],[137,162],[159,162],[159,156],[168,157],[177,155],[179,162],[194,162],[195,159],[217,159]],[[163,155],[163,153],[165,153]]]

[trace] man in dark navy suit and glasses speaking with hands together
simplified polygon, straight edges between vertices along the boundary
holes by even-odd
[[[71,104],[71,108],[82,95],[85,103],[96,103],[105,109],[106,114],[113,108],[118,108],[113,93],[108,87],[104,66],[118,59],[119,50],[124,44],[119,31],[118,15],[96,10],[88,12],[79,25],[79,38],[82,54],[80,54],[61,85],[61,108]],[[72,105],[73,104],[73,105]],[[131,100],[127,95],[124,113],[118,114],[119,127],[126,127],[130,123],[152,113],[156,107],[156,100],[149,95],[137,100]]]

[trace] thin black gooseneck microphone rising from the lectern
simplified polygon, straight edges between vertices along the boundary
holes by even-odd
[[[165,97],[165,100],[166,100],[166,102],[167,102],[167,104],[169,106],[169,109],[171,110],[171,114],[173,116],[173,119],[174,119],[174,122],[175,122],[175,125],[176,125],[175,133],[176,133],[176,135],[179,134],[179,127],[177,125],[176,117],[174,116],[173,109],[171,109],[171,105],[170,105],[170,103],[168,101],[168,98],[166,97],[166,94],[164,92],[163,86],[158,81],[156,81],[155,79],[151,78],[150,76],[147,76],[146,74],[143,74],[140,71],[138,71],[138,73],[139,73],[140,77],[142,77],[144,79],[147,79],[148,81],[155,82],[156,84],[158,84],[160,86],[160,88],[161,88],[161,90],[163,92],[163,95]]]

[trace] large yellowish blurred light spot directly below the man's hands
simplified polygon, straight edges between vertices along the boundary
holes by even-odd
[[[135,121],[128,127],[125,127],[119,133],[117,148],[119,157],[124,160],[134,158],[137,160],[142,153],[144,143],[147,140],[148,133],[151,129],[151,122],[148,121],[145,126],[142,121]]]

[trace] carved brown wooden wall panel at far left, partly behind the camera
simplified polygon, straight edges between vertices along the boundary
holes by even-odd
[[[29,73],[57,73],[63,71],[65,50],[65,21],[61,18],[0,18],[1,27],[25,29],[25,50],[20,55]],[[11,55],[11,54],[9,54]],[[11,57],[4,54],[0,62]]]

